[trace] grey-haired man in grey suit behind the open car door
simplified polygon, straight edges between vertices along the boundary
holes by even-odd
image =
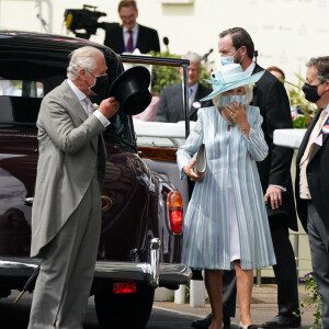
[[[189,113],[190,120],[197,120],[197,110],[201,106],[208,106],[212,101],[200,102],[200,100],[208,95],[212,90],[205,88],[197,82],[201,73],[201,57],[195,53],[188,53],[182,56],[183,59],[189,59],[190,65],[188,67],[189,78]],[[183,75],[183,69],[180,69]],[[175,123],[184,121],[184,107],[183,107],[183,86],[182,83],[174,84],[162,89],[160,93],[160,101],[157,107],[156,121]]]

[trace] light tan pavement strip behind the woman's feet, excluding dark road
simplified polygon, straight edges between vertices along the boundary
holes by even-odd
[[[303,285],[299,285],[299,299],[306,296],[306,292]],[[160,309],[169,309],[172,311],[184,313],[186,315],[193,315],[195,317],[204,317],[211,313],[211,305],[206,303],[206,307],[190,307],[189,304],[178,305],[172,302],[155,302],[154,307]],[[313,326],[315,309],[306,309],[302,316],[302,327],[303,329]],[[266,320],[272,319],[277,314],[276,304],[276,285],[274,284],[263,284],[260,287],[254,286],[252,292],[252,305],[251,315],[254,324],[261,325]],[[237,306],[236,318],[232,318],[234,324],[239,324],[239,308]],[[237,326],[231,326],[232,328],[238,328]],[[192,327],[191,327],[192,328]]]

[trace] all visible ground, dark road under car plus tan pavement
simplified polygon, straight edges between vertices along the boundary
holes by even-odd
[[[31,294],[25,294],[21,302],[16,305],[13,300],[18,292],[9,298],[0,299],[0,328],[1,329],[26,329],[29,314],[31,307]],[[299,286],[299,298],[306,296],[304,286]],[[302,317],[302,328],[306,329],[313,325],[314,308],[306,309]],[[174,314],[173,314],[174,313]],[[178,305],[172,302],[155,302],[150,321],[146,329],[192,329],[190,324],[193,319],[203,318],[211,313],[211,306],[206,303],[204,308],[192,308],[189,304]],[[273,284],[263,284],[253,287],[251,313],[254,324],[262,322],[273,318],[277,313],[276,306],[276,286]],[[171,316],[172,315],[172,316]],[[237,316],[232,320],[232,329],[237,329],[239,324],[239,309],[237,307]],[[84,324],[86,329],[99,329],[94,307],[93,297],[89,299],[89,307]]]

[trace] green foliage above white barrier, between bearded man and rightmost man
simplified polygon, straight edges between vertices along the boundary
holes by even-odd
[[[295,75],[298,79],[297,84],[284,80],[288,88],[288,98],[291,105],[297,110],[300,110],[303,114],[293,116],[293,127],[294,128],[307,128],[311,120],[314,118],[318,107],[316,104],[308,102],[305,99],[304,92],[302,90],[305,79],[300,75]]]

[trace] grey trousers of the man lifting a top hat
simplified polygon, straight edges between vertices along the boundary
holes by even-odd
[[[78,208],[41,251],[29,329],[82,328],[100,240],[101,206],[99,181],[93,178]]]

